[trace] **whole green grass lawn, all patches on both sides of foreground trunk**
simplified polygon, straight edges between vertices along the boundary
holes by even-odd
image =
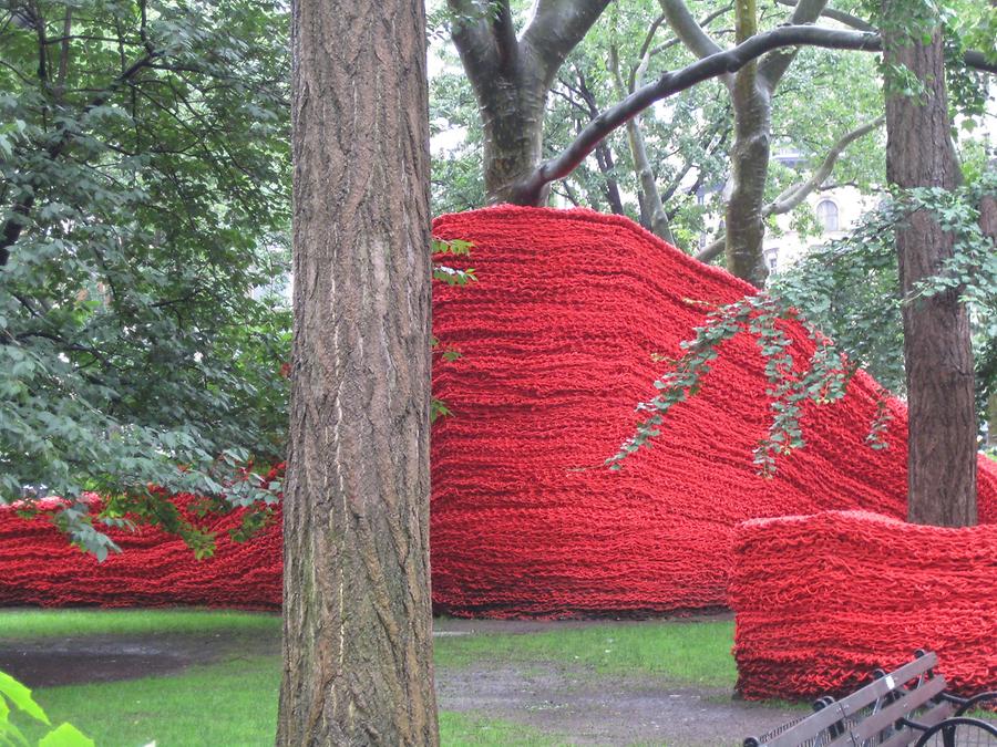
[[[55,636],[222,633],[278,640],[276,615],[206,611],[0,611],[0,642]],[[594,674],[645,673],[679,683],[732,686],[733,623],[594,625],[531,634],[436,637],[439,668],[483,661],[559,662]],[[4,641],[6,640],[6,641]],[[230,651],[230,650],[229,650]],[[278,656],[230,654],[179,673],[35,691],[53,723],[71,722],[101,747],[271,745]],[[23,724],[23,722],[21,722]],[[551,735],[486,714],[442,712],[444,745],[557,745]],[[37,736],[38,733],[35,733]]]

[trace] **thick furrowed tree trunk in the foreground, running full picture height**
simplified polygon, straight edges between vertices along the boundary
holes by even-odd
[[[277,744],[438,743],[419,0],[297,0],[295,340]]]

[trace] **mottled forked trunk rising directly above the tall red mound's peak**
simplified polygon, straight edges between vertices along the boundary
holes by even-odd
[[[508,0],[448,0],[453,41],[481,107],[490,204],[523,203],[514,187],[543,156],[547,92],[609,1],[537,0],[533,20],[517,38]],[[546,190],[530,203],[544,201]]]

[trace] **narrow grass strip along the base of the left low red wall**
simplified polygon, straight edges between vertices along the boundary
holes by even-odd
[[[225,610],[0,610],[0,640],[153,633],[280,635],[280,615]]]

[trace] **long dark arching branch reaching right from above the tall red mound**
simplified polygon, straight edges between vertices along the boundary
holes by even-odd
[[[655,102],[685,91],[724,73],[732,73],[765,52],[781,46],[822,46],[825,49],[878,51],[882,40],[876,34],[857,31],[836,31],[812,25],[780,27],[751,37],[731,50],[711,54],[681,70],[667,72],[606,110],[556,158],[548,159],[516,187],[520,205],[535,205],[544,187],[571,174],[595,146],[610,132],[646,110]]]

